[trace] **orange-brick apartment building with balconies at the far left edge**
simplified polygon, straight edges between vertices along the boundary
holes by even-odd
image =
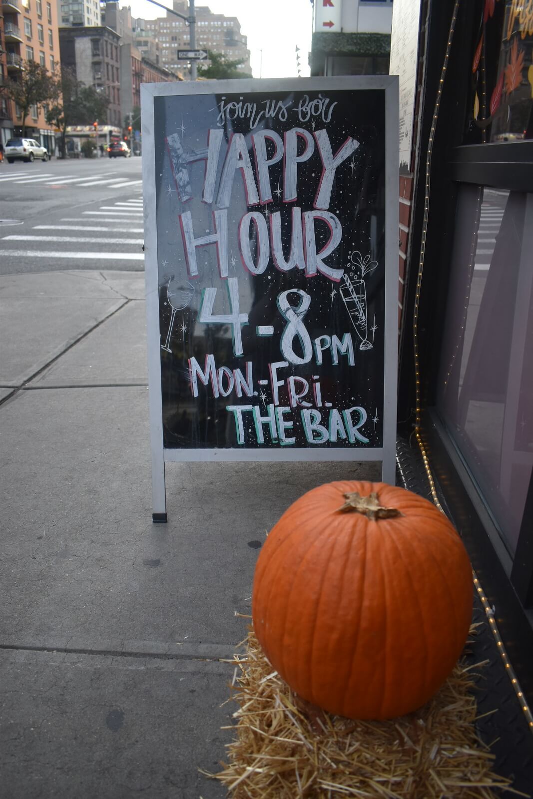
[[[54,72],[59,63],[58,16],[54,0],[2,0],[2,80],[22,76],[25,62],[34,61]],[[2,98],[0,135],[2,144],[22,135],[21,109]],[[47,124],[42,107],[33,105],[26,117],[26,136],[40,141],[54,153],[54,130]]]

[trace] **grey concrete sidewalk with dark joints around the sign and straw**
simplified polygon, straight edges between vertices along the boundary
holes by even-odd
[[[0,277],[0,765],[6,799],[222,797],[223,662],[257,549],[373,464],[167,464],[151,521],[144,275]]]

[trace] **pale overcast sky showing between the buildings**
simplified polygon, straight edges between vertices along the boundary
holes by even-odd
[[[172,0],[161,0],[172,8]],[[146,0],[120,0],[130,6],[133,17],[155,19],[165,11]],[[310,0],[197,0],[197,6],[209,6],[214,14],[237,17],[241,33],[248,37],[254,78],[290,78],[296,76],[295,47],[300,47],[302,77],[309,74],[312,4]],[[262,58],[261,58],[262,51]]]

